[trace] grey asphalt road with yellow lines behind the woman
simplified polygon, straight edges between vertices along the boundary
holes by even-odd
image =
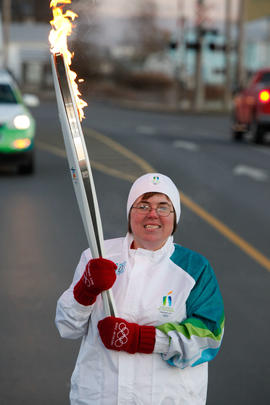
[[[60,339],[55,305],[87,247],[54,101],[37,119],[36,173],[0,174],[0,403],[68,403],[79,342]],[[106,238],[126,232],[130,184],[147,170],[178,184],[175,239],[206,256],[226,310],[208,405],[268,403],[270,146],[233,143],[223,116],[90,103],[83,122]]]

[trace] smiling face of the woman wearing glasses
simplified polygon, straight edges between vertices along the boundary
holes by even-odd
[[[155,194],[147,200],[140,196],[134,202],[133,207],[138,203],[147,203],[152,210],[141,214],[137,209],[130,210],[130,227],[134,237],[134,248],[148,250],[158,250],[167,241],[174,228],[175,213],[170,213],[167,217],[159,216],[153,208],[167,205],[173,211],[173,205],[165,194]]]

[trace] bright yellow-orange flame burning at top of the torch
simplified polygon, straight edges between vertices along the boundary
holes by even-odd
[[[59,3],[62,6],[57,7]],[[70,83],[73,89],[76,105],[78,108],[80,121],[84,118],[83,108],[87,106],[87,103],[80,97],[81,93],[78,88],[76,80],[79,82],[83,79],[77,79],[77,74],[70,69],[73,53],[68,49],[67,38],[72,33],[73,21],[78,17],[78,14],[71,10],[63,12],[65,4],[71,4],[71,0],[51,0],[50,7],[52,8],[53,19],[50,21],[52,29],[49,34],[49,42],[51,44],[52,53],[61,53],[66,62],[67,71],[70,79]]]

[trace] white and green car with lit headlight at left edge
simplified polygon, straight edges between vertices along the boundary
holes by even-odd
[[[36,124],[26,104],[27,96],[22,97],[12,76],[0,70],[0,166],[15,167],[21,174],[34,172]]]

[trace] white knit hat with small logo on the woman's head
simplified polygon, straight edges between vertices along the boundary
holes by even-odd
[[[171,200],[175,213],[176,222],[179,222],[181,214],[180,195],[173,181],[160,173],[147,173],[139,177],[132,185],[127,201],[127,217],[133,203],[144,193],[156,192],[166,194]]]

